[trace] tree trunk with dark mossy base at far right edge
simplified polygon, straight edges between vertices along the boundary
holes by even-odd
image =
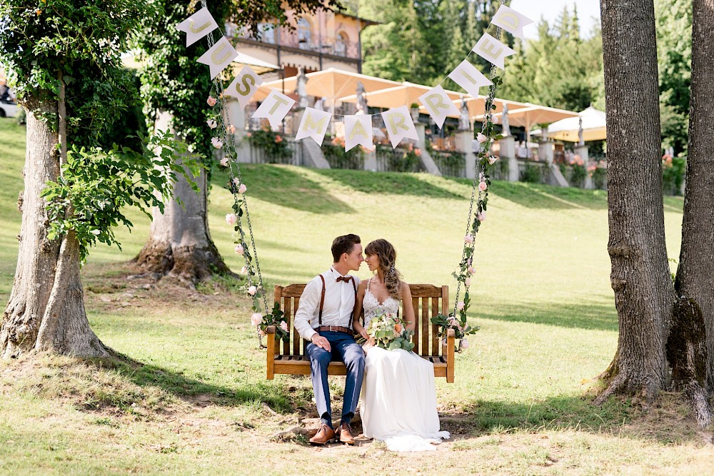
[[[675,288],[682,300],[698,309],[688,334],[701,344],[702,365],[686,366],[690,393],[714,390],[714,0],[693,1],[692,86],[689,118],[689,156],[684,196],[682,249]],[[677,316],[675,316],[676,318]],[[694,332],[694,330],[699,332]],[[684,340],[682,345],[690,342]],[[698,345],[688,347],[698,348]],[[684,352],[684,349],[682,350]],[[704,364],[705,363],[705,364]],[[690,368],[691,367],[691,368]],[[673,363],[673,372],[677,370]],[[699,396],[694,402],[706,400]],[[696,409],[695,405],[695,409]],[[697,410],[700,425],[712,417],[708,405]]]

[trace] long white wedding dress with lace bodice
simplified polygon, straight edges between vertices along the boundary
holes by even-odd
[[[378,309],[399,309],[392,297],[380,304],[369,284],[363,300],[365,328]],[[436,450],[432,443],[450,436],[439,431],[433,364],[402,349],[367,351],[360,415],[364,435],[383,440],[392,451]]]

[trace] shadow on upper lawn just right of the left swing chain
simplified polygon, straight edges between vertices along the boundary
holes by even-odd
[[[248,195],[275,205],[311,213],[353,213],[347,203],[332,196],[320,183],[298,173],[294,168],[243,164],[243,181],[248,184]],[[225,188],[228,175],[214,171],[213,186]],[[228,193],[226,189],[222,191]]]

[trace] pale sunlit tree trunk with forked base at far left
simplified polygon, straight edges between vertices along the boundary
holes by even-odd
[[[34,106],[39,107],[39,112],[58,112],[57,104]],[[46,181],[55,181],[59,176],[58,143],[58,134],[46,122],[39,121],[32,112],[27,115],[20,245],[0,330],[2,358],[17,357],[34,348],[70,355],[106,355],[84,312],[79,243],[72,233],[62,242],[51,241],[46,234],[46,201],[41,192]]]

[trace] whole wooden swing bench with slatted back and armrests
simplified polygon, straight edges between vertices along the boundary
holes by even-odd
[[[273,380],[276,373],[310,375],[310,358],[305,352],[308,342],[300,337],[293,326],[293,316],[300,305],[300,296],[304,288],[304,284],[275,287],[275,302],[280,303],[280,308],[285,313],[290,340],[277,341],[275,326],[268,326],[266,330],[268,380]],[[410,284],[409,288],[416,316],[416,328],[411,339],[414,343],[413,351],[433,363],[435,377],[444,377],[446,382],[453,383],[454,331],[448,329],[446,344],[442,344],[437,335],[438,325],[431,323],[433,316],[439,313],[448,314],[448,286]],[[401,314],[403,315],[403,312]],[[333,360],[328,366],[328,375],[346,375],[345,365]]]

